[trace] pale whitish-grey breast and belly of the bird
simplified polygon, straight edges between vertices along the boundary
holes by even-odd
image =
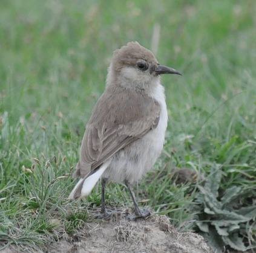
[[[156,129],[149,131],[141,139],[117,152],[103,174],[103,178],[114,182],[127,180],[133,184],[153,167],[163,149],[168,120],[165,103],[162,104],[161,109]]]

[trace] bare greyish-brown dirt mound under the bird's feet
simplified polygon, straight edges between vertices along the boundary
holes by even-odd
[[[47,252],[212,252],[202,236],[177,232],[166,216],[130,221],[119,214],[88,223],[73,240],[53,243]]]

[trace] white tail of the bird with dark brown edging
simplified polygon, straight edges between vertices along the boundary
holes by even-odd
[[[68,199],[79,199],[81,197],[88,196],[93,190],[93,187],[96,185],[97,181],[99,181],[100,176],[102,176],[104,171],[107,169],[108,165],[109,162],[104,163],[101,165],[99,170],[95,171],[87,178],[81,178],[71,191],[70,196],[68,196]]]

